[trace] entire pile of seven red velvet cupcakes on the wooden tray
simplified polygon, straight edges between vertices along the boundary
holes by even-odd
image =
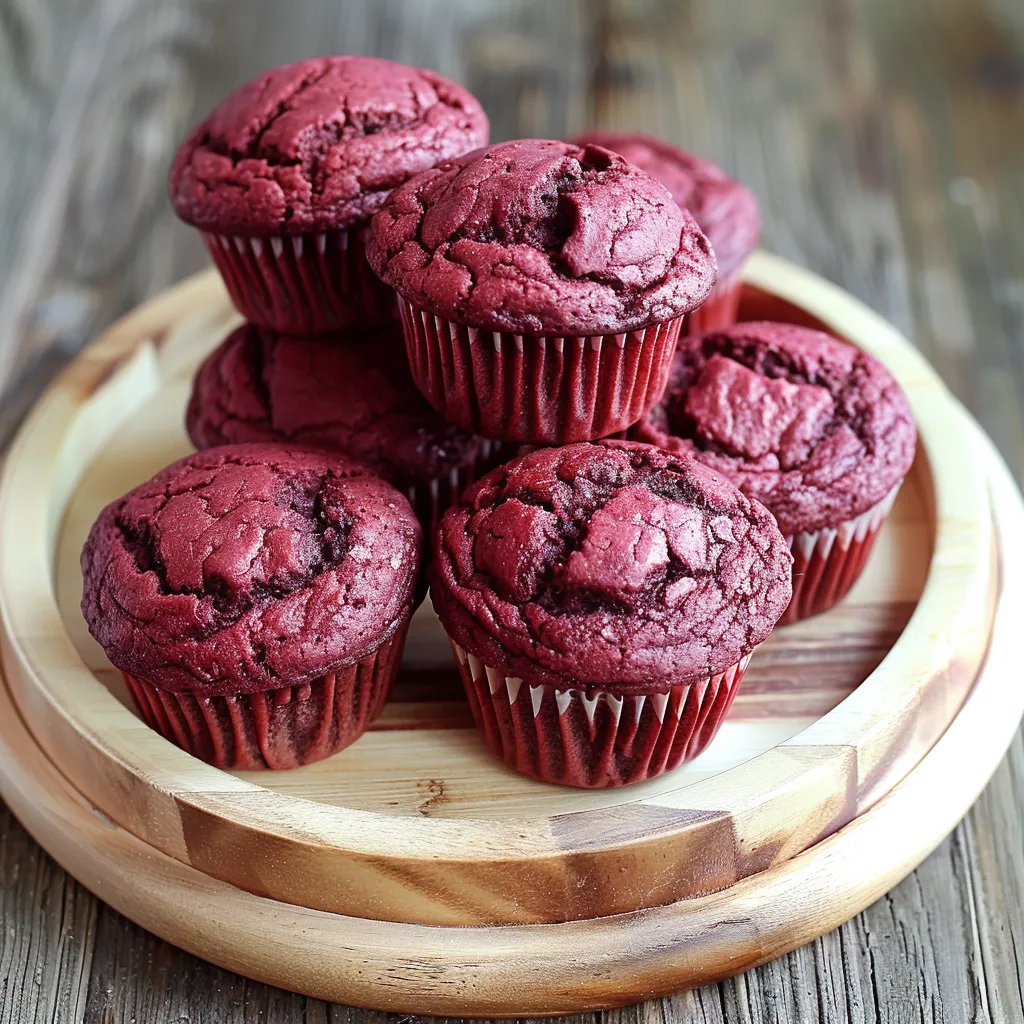
[[[734,323],[749,190],[645,136],[486,130],[431,72],[333,57],[179,152],[175,209],[247,323],[197,374],[201,451],[97,520],[83,610],[198,757],[357,738],[426,580],[499,758],[653,777],[712,740],[776,623],[849,589],[892,505],[914,434],[889,375]]]

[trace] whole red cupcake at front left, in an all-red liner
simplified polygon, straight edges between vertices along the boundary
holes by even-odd
[[[380,713],[421,543],[406,499],[359,463],[211,449],[99,514],[82,612],[166,738],[221,768],[292,768]]]

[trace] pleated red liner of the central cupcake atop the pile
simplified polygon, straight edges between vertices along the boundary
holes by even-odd
[[[413,379],[446,420],[507,441],[567,444],[636,423],[665,392],[682,317],[624,334],[549,338],[398,307]]]

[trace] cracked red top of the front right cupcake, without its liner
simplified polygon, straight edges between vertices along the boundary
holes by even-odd
[[[792,564],[767,510],[723,477],[598,441],[471,486],[434,535],[431,596],[452,639],[508,676],[653,693],[749,654],[790,602]]]

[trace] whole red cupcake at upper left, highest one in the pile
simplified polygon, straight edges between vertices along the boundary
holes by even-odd
[[[247,319],[293,334],[382,324],[394,296],[364,236],[388,193],[484,145],[487,119],[431,71],[314,57],[254,78],[201,122],[170,174]]]

